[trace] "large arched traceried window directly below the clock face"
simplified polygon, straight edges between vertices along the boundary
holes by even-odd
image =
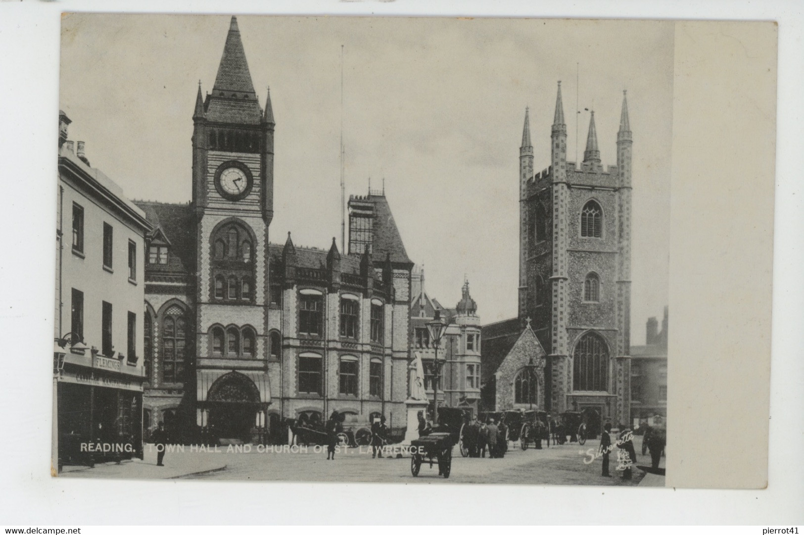
[[[215,229],[211,236],[211,294],[216,301],[254,299],[253,238],[240,221]]]

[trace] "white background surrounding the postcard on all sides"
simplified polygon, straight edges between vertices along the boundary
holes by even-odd
[[[242,484],[49,477],[59,12],[220,12],[218,2],[0,2],[0,522],[10,525],[804,523],[802,87],[799,2],[227,2],[226,12],[777,20],[779,88],[769,488]],[[736,177],[743,179],[744,177]],[[747,252],[746,261],[750,261]],[[46,379],[47,378],[47,379]],[[774,388],[775,387],[775,388]],[[746,393],[750,395],[750,393]],[[739,415],[735,415],[739,418]],[[746,430],[750,433],[751,430]],[[757,444],[766,437],[757,436]],[[711,447],[727,448],[712,437]],[[740,467],[734,467],[739,470]]]

